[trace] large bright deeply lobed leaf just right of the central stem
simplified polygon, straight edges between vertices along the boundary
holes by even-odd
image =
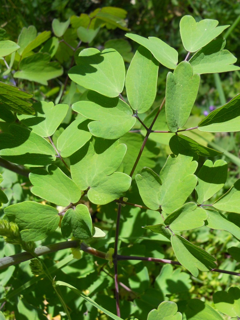
[[[148,168],[136,175],[140,196],[148,208],[157,210],[161,206],[165,213],[172,213],[184,204],[197,183],[193,174],[197,162],[192,159],[180,154],[177,157],[170,155],[159,177]]]

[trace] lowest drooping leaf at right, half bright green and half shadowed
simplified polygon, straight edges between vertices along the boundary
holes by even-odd
[[[208,271],[216,268],[216,259],[205,250],[192,244],[179,235],[171,236],[172,248],[181,265],[188,269],[194,277],[199,271]]]

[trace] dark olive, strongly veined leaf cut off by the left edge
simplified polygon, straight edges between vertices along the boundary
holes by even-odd
[[[29,99],[33,95],[10,84],[0,82],[0,103],[7,110],[19,112],[27,115],[34,114],[32,104],[24,99]]]

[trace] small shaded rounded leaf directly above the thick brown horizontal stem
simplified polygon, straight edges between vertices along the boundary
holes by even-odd
[[[87,206],[78,204],[75,209],[69,209],[61,221],[61,231],[64,239],[78,240],[92,237],[92,218]]]

